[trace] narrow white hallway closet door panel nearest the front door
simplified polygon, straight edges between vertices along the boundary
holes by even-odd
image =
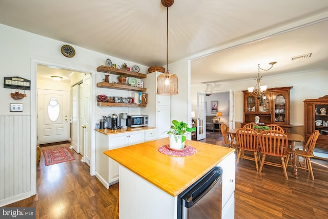
[[[72,136],[71,136],[71,146],[79,153],[78,147],[78,85],[72,87]]]

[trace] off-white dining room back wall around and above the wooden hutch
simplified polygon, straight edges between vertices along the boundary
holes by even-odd
[[[262,84],[268,85],[268,88],[290,87],[291,89],[291,124],[303,126],[303,101],[304,99],[318,98],[327,95],[326,89],[328,82],[328,70],[292,73],[281,76],[262,75]],[[220,90],[235,91],[235,121],[243,122],[243,93],[241,90],[247,90],[247,87],[255,86],[254,80],[224,82],[220,85]],[[191,86],[192,98],[197,98],[197,92],[204,92],[206,85]],[[193,102],[194,103],[194,102]],[[193,104],[193,111],[197,111],[197,105]]]

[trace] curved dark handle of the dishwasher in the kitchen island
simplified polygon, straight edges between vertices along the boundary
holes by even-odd
[[[213,181],[214,177],[215,179]],[[208,180],[206,180],[206,182],[204,182],[201,186],[197,185],[198,189],[193,191],[190,197],[187,197],[186,199],[182,200],[183,206],[185,206],[186,208],[190,208],[194,204],[196,204],[204,195],[206,195],[215,186],[215,184],[221,179],[221,177],[222,177],[221,171],[214,171],[212,175],[208,178]],[[207,187],[207,188],[204,189],[203,187]]]

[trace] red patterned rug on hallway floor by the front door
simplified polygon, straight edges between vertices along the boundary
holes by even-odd
[[[75,160],[66,147],[43,150],[46,166]]]

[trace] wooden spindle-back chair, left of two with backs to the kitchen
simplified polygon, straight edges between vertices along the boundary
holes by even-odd
[[[236,132],[238,156],[236,165],[239,163],[240,158],[255,161],[256,171],[258,171],[258,163],[260,161],[258,134],[254,129],[240,128]],[[254,153],[254,157],[244,155],[244,151],[251,151]]]

